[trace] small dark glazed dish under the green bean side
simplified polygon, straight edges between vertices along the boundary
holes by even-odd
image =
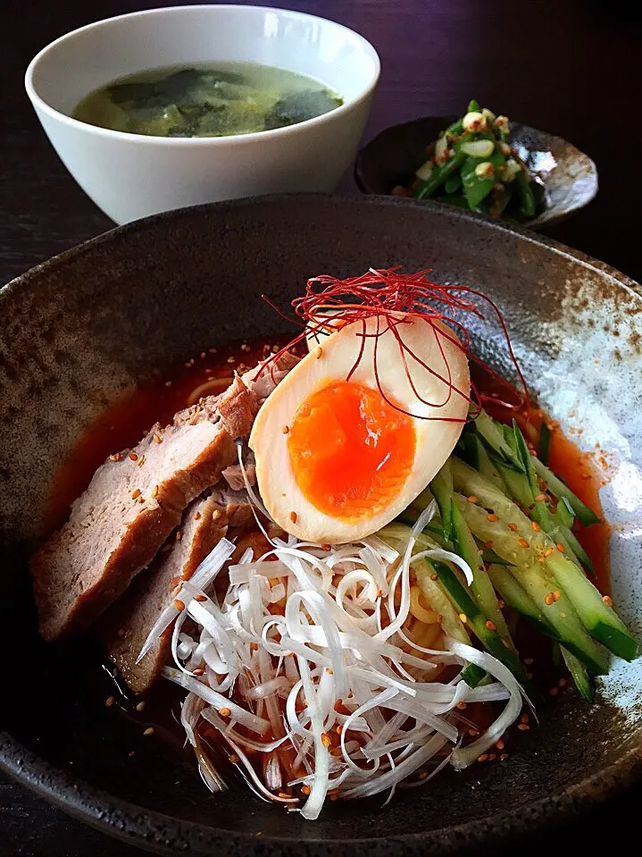
[[[426,160],[426,147],[456,118],[426,116],[382,130],[356,157],[359,189],[388,196],[396,185],[409,185]],[[546,191],[546,209],[526,224],[529,229],[559,222],[588,205],[597,193],[597,168],[588,155],[565,139],[519,122],[511,122],[511,130],[513,145]]]

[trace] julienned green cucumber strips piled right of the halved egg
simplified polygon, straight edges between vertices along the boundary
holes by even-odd
[[[546,456],[546,437],[542,451]],[[566,661],[588,701],[594,693],[592,676],[608,667],[599,643],[625,660],[636,657],[637,643],[584,574],[582,566],[592,572],[591,561],[571,529],[576,516],[584,525],[598,518],[529,451],[516,423],[497,423],[482,411],[460,438],[456,455],[400,519],[413,525],[432,500],[439,517],[420,534],[417,549],[440,545],[464,559],[472,572],[469,589],[456,567],[415,563],[426,599],[447,603],[446,633],[452,634],[447,624],[452,635],[467,636],[460,618],[465,614],[479,642],[515,675],[519,667],[523,676],[508,636],[505,604],[554,640],[558,660]],[[393,534],[397,528],[407,538],[404,526],[388,525],[383,532]],[[500,639],[504,651],[497,648]],[[461,677],[475,686],[485,676],[483,670],[466,668]]]

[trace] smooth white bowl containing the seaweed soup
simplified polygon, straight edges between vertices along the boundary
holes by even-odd
[[[216,138],[147,137],[71,117],[89,92],[123,75],[216,62],[296,71],[344,103],[286,128]],[[25,86],[80,187],[116,223],[128,223],[219,199],[334,190],[354,160],[378,79],[375,49],[338,23],[267,7],[195,5],[76,29],[31,61]]]

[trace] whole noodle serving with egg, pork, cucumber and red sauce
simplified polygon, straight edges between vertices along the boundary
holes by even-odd
[[[609,652],[635,657],[591,464],[479,364],[481,302],[424,272],[316,278],[295,340],[189,357],[85,450],[106,461],[32,560],[41,633],[93,628],[135,699],[178,685],[214,792],[238,767],[315,819],[504,760],[566,676],[592,700]]]

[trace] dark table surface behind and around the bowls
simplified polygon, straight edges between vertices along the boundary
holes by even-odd
[[[254,0],[254,4],[271,3]],[[284,0],[283,4],[341,21],[379,50],[382,77],[366,137],[416,116],[461,113],[475,97],[497,112],[570,139],[596,161],[600,190],[588,208],[549,234],[642,278],[639,4],[621,0]],[[157,5],[163,3],[0,3],[0,282],[113,225],[76,186],[40,129],[22,87],[29,60],[52,39],[89,21]],[[350,177],[341,190],[354,190]],[[8,704],[5,693],[6,688]],[[9,689],[9,697],[11,693]],[[590,825],[567,830],[574,847],[578,851],[608,847],[601,832],[605,828],[623,836],[626,813],[631,818],[640,798],[642,788],[596,813]],[[554,843],[549,847],[556,851]],[[21,786],[0,778],[0,854],[134,857],[140,852],[68,819]]]

